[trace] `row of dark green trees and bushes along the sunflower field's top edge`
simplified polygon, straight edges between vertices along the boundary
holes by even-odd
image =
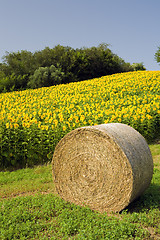
[[[145,70],[143,63],[126,63],[108,44],[81,49],[57,45],[34,53],[6,52],[0,63],[0,92],[48,87],[135,70]]]

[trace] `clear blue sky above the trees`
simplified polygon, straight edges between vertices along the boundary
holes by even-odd
[[[160,0],[0,0],[0,62],[6,52],[101,43],[125,62],[160,70]]]

